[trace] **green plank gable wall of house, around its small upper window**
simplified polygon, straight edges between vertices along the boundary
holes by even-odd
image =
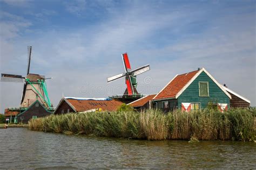
[[[208,82],[209,84],[209,97],[199,97],[199,81]],[[178,97],[178,108],[181,108],[181,103],[199,102],[200,108],[207,107],[208,102],[213,103],[228,103],[230,105],[230,98],[221,90],[217,84],[205,73],[202,72],[196,80]]]

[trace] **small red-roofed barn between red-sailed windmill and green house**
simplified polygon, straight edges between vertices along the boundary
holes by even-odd
[[[144,96],[142,98],[139,98],[136,101],[129,103],[128,105],[130,105],[131,107],[133,107],[136,110],[151,109],[151,108],[153,108],[152,99],[154,96],[156,96],[156,95],[154,94],[154,95]]]

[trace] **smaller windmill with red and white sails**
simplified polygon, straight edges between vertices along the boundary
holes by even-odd
[[[130,61],[129,61],[127,53],[122,54],[122,59],[123,59],[123,63],[124,63],[125,72],[108,77],[107,83],[112,82],[114,80],[118,80],[122,77],[125,77],[126,90],[125,90],[122,98],[123,99],[130,98],[132,100],[137,100],[137,98],[142,97],[142,95],[140,95],[136,89],[136,87],[137,87],[136,76],[150,70],[150,66],[145,65],[145,66],[139,67],[137,69],[131,70],[131,65],[130,65]],[[112,97],[112,98],[114,98],[114,97]],[[116,98],[120,98],[120,96],[117,96]],[[123,100],[123,102],[125,102],[125,101],[127,101],[127,100]],[[130,102],[130,101],[127,101],[127,102]]]

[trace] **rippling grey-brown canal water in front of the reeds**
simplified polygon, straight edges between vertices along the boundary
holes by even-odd
[[[146,141],[0,129],[0,169],[256,168],[256,143]]]

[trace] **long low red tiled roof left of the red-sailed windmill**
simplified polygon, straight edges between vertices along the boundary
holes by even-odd
[[[75,100],[75,99],[66,99],[70,104],[79,111],[87,111],[91,109],[101,108],[103,111],[117,111],[118,107],[122,102],[116,100],[110,101],[100,101],[100,100]]]

